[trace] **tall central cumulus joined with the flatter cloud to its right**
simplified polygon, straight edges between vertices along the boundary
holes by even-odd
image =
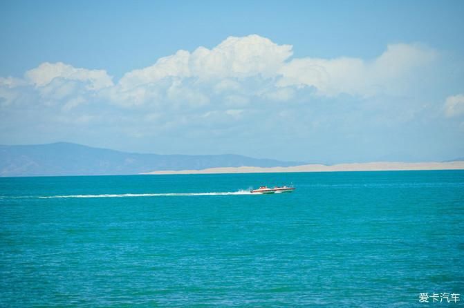
[[[189,96],[198,97],[199,105],[205,104],[206,97],[214,100],[212,96],[218,93],[248,100],[267,97],[286,101],[304,87],[327,97],[397,95],[411,72],[436,59],[434,50],[418,44],[391,44],[375,59],[292,59],[292,55],[293,46],[275,44],[258,35],[228,37],[212,49],[199,47],[192,53],[179,50],[158,59],[153,66],[125,74],[113,97],[122,98],[114,101],[123,105],[145,104],[163,100],[160,95],[179,83],[184,85],[184,92],[185,84],[189,84],[187,87],[196,93]]]

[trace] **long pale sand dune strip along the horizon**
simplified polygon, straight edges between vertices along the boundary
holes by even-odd
[[[152,171],[141,174],[215,174],[215,173],[279,173],[279,172],[329,172],[329,171],[401,171],[401,170],[463,170],[464,161],[458,162],[366,162],[354,164],[306,164],[291,167],[225,167],[203,170]]]

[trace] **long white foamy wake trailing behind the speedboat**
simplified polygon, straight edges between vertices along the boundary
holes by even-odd
[[[258,195],[250,191],[226,191],[223,193],[108,193],[102,195],[50,195],[41,196],[40,199],[50,198],[134,198],[134,197],[178,197],[192,195]]]

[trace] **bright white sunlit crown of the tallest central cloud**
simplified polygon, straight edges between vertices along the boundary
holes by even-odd
[[[156,64],[126,73],[119,81],[121,91],[158,84],[163,79],[194,78],[216,85],[216,90],[239,88],[237,81],[248,77],[275,77],[284,61],[293,54],[292,46],[278,45],[259,35],[228,37],[218,46],[198,47],[190,53],[178,50]]]

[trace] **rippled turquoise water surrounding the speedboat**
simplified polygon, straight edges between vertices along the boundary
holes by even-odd
[[[464,171],[0,178],[0,307],[427,306],[463,233]]]

